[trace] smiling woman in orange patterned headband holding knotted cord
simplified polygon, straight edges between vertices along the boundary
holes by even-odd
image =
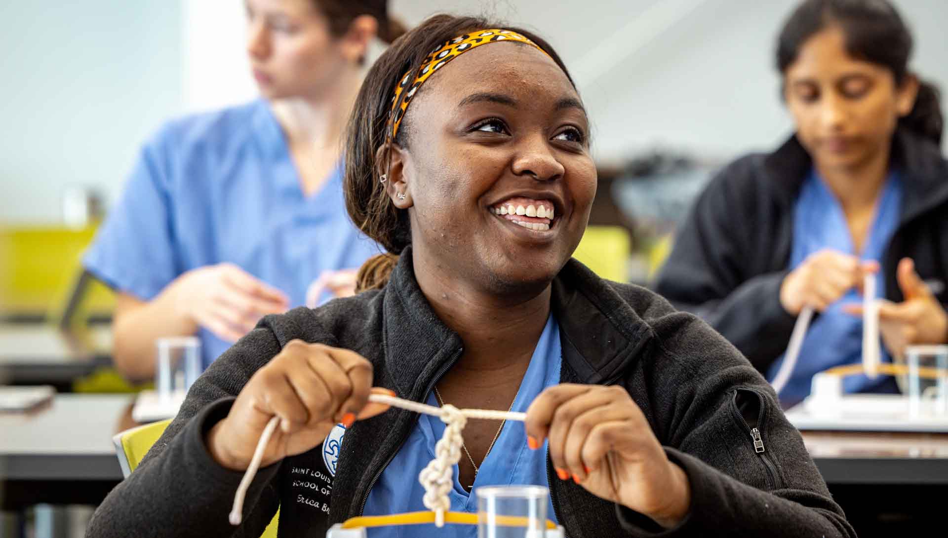
[[[525,428],[466,427],[453,510],[476,510],[471,486],[529,482],[573,537],[852,536],[737,350],[570,259],[595,193],[588,132],[566,67],[528,32],[441,15],[395,42],[345,150],[349,213],[391,253],[363,267],[369,291],[264,318],[195,382],[89,536],[256,537],[278,505],[281,535],[319,536],[423,510],[416,477],[444,424],[367,404],[373,390],[526,412]],[[230,502],[273,417],[235,532]]]

